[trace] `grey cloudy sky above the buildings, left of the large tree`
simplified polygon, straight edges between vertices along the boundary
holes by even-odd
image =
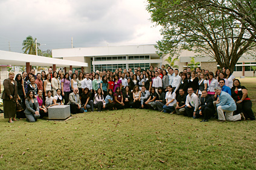
[[[161,39],[146,0],[0,0],[0,50],[22,52],[27,36],[40,49],[152,44]]]

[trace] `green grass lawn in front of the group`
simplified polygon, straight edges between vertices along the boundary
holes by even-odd
[[[0,129],[0,169],[256,169],[255,121],[126,109],[66,122],[8,124],[1,114]]]

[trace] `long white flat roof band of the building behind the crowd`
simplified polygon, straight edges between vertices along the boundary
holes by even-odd
[[[153,45],[122,45],[122,46],[98,46],[86,48],[62,48],[53,49],[53,57],[97,57],[114,55],[156,55],[156,44]]]

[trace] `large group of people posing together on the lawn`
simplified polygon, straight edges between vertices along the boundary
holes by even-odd
[[[63,104],[70,105],[72,114],[135,108],[202,118],[201,122],[255,120],[248,91],[229,68],[217,69],[215,74],[200,68],[179,72],[164,65],[92,73],[50,68],[48,74],[35,75],[31,69],[15,78],[9,72],[2,99],[4,118],[10,123],[22,118],[35,122],[48,116],[49,107]],[[17,104],[24,112],[16,114]]]

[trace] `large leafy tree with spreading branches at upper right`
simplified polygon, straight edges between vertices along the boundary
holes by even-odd
[[[162,26],[159,54],[188,49],[232,71],[238,59],[255,48],[255,30],[231,14],[232,1],[237,0],[148,0],[152,21]]]

